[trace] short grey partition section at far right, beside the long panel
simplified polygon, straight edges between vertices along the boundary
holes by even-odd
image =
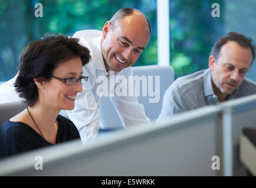
[[[239,139],[244,127],[256,127],[256,95],[230,100],[223,103],[221,108],[224,114],[224,165],[227,164],[224,175],[246,176],[239,158]]]

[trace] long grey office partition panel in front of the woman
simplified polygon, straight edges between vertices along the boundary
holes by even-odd
[[[85,145],[76,140],[34,150],[0,160],[0,175],[216,176],[220,115],[220,108],[208,106]],[[35,170],[39,159],[43,169]]]

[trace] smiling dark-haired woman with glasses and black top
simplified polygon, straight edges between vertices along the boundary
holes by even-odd
[[[15,89],[27,104],[0,129],[0,157],[67,140],[80,139],[76,126],[58,115],[74,109],[74,100],[88,80],[82,67],[90,52],[78,39],[46,35],[28,44],[21,55]]]

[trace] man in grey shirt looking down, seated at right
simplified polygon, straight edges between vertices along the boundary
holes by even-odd
[[[157,120],[256,93],[255,82],[245,79],[254,53],[251,38],[238,32],[223,36],[212,48],[208,69],[182,76],[166,90]]]

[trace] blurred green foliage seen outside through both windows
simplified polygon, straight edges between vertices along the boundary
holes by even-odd
[[[37,2],[43,5],[43,18],[34,16]],[[241,19],[246,18],[246,11],[242,11],[245,6],[249,10],[246,14],[250,14],[250,19],[245,22],[253,26],[255,14],[250,10],[253,10],[251,4],[254,1],[243,2],[243,8],[238,8],[239,2],[169,1],[170,65],[176,77],[208,68],[209,52],[216,40],[228,32],[225,30],[227,24],[228,29],[248,36],[253,34],[253,29],[247,30],[246,26],[241,28],[239,25],[243,24]],[[219,18],[211,16],[211,5],[214,3],[221,7]],[[47,32],[72,36],[84,29],[101,30],[114,12],[124,7],[140,9],[152,26],[149,44],[134,66],[157,64],[156,0],[0,0],[0,82],[17,73],[19,58],[28,42]],[[235,17],[239,12],[244,12],[244,16]]]

